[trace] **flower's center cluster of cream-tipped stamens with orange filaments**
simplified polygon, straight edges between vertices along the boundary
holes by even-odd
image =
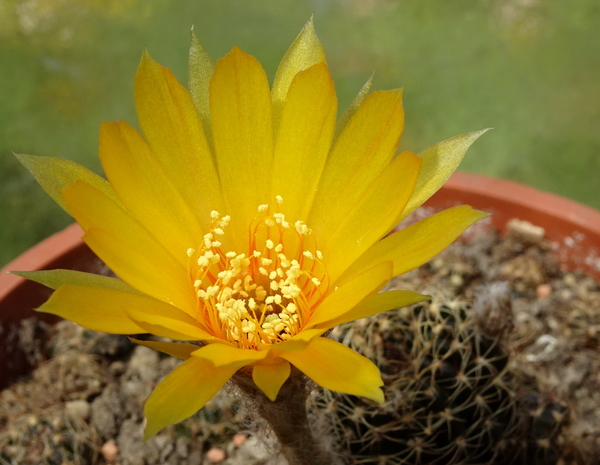
[[[304,222],[289,223],[278,204],[260,205],[249,227],[247,253],[224,252],[229,216],[211,212],[202,247],[188,249],[198,296],[198,322],[238,347],[257,349],[299,333],[327,295],[323,255]]]

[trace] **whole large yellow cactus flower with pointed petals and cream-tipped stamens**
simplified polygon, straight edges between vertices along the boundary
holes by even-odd
[[[388,233],[450,176],[483,132],[395,156],[402,91],[337,99],[312,21],[272,89],[234,48],[212,64],[193,36],[190,91],[145,53],[135,80],[144,138],[105,123],[108,181],[67,160],[19,156],[120,279],[21,275],[56,289],[39,310],[185,360],[148,399],[146,437],[199,410],[244,368],[271,400],[291,366],[319,385],[383,402],[379,371],[323,334],[427,299],[378,293],[485,216],[468,206]]]

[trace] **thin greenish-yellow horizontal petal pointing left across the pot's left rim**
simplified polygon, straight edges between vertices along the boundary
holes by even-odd
[[[93,273],[73,270],[42,270],[42,271],[11,271],[12,274],[22,278],[43,284],[50,289],[58,289],[60,286],[70,284],[72,286],[96,287],[99,289],[112,289],[115,291],[139,294],[129,284],[120,279],[109,278]]]

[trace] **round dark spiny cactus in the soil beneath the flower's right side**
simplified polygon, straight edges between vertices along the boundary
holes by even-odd
[[[418,305],[342,325],[331,337],[375,362],[386,403],[319,390],[315,422],[348,463],[551,464],[567,413],[523,394],[500,336],[458,302]]]

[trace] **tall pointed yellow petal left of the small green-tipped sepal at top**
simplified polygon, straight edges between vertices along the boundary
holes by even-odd
[[[219,176],[189,92],[145,52],[135,77],[135,105],[144,137],[162,168],[206,228],[221,211]]]

